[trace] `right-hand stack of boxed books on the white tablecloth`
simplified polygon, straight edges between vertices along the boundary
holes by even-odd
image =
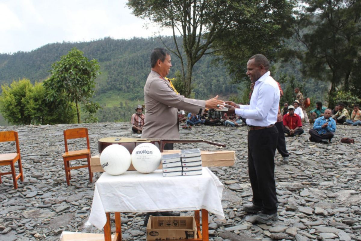
[[[197,149],[181,150],[183,176],[202,175],[201,151]]]

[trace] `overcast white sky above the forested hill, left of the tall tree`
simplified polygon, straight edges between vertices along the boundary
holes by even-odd
[[[171,35],[131,14],[127,0],[0,0],[0,53],[104,37]],[[148,25],[148,29],[145,27]]]

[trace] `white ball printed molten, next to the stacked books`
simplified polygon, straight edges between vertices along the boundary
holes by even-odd
[[[158,168],[161,158],[160,150],[152,143],[142,143],[136,146],[132,152],[133,167],[141,173],[154,172]]]

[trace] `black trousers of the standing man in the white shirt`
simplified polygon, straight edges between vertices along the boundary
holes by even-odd
[[[265,214],[277,212],[274,180],[274,154],[277,142],[276,126],[248,132],[248,174],[252,186],[253,204],[262,207],[262,212]]]

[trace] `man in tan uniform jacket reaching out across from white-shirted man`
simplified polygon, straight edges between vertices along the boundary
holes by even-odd
[[[178,139],[178,110],[203,115],[205,108],[222,108],[218,95],[209,100],[188,99],[177,95],[164,77],[169,74],[171,57],[164,48],[151,54],[151,73],[144,86],[145,124],[142,138]]]

